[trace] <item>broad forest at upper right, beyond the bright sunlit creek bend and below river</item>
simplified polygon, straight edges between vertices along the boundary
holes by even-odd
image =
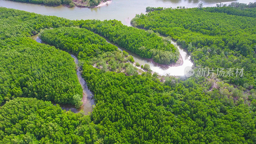
[[[197,68],[244,68],[243,77],[223,80],[252,89],[256,88],[255,13],[255,8],[235,7],[165,9],[137,15],[132,24],[177,40]]]

